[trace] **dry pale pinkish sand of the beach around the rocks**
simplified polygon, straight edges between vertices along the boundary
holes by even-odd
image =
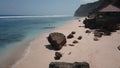
[[[120,51],[117,47],[120,45],[120,31],[113,33],[111,36],[103,36],[99,41],[94,41],[93,34],[86,34],[82,20],[73,20],[64,26],[56,28],[52,32],[60,32],[66,36],[75,31],[73,39],[67,39],[67,44],[78,40],[75,46],[65,46],[60,52],[63,57],[60,60],[54,60],[55,51],[46,48],[49,45],[46,37],[49,33],[40,36],[30,43],[29,53],[17,63],[14,68],[49,68],[50,62],[83,62],[90,64],[90,68],[120,68]],[[70,55],[68,55],[71,52]]]

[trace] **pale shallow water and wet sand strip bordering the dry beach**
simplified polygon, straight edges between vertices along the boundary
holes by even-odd
[[[38,33],[33,31],[32,34],[26,35],[25,39],[15,42],[15,43],[8,44],[9,46],[6,47],[7,51],[4,52],[3,55],[1,54],[0,67],[2,67],[2,68],[14,67],[14,64],[18,64],[19,60],[24,57],[24,53],[26,54],[26,50],[32,41],[37,39],[39,36],[44,35],[44,33],[51,32],[52,30],[56,29],[57,27],[60,27],[64,24],[66,24],[68,21],[70,21],[72,19],[74,19],[74,17],[70,17],[70,18],[66,17],[62,21],[62,23],[59,23],[59,21],[57,21],[54,25],[52,25],[52,26],[54,26],[54,28],[44,28],[44,26],[46,27],[46,25],[44,25],[41,28],[41,29],[43,29],[43,32],[42,32],[42,30],[40,30],[40,31],[38,30],[37,31]],[[34,34],[34,36],[33,36],[33,34]]]

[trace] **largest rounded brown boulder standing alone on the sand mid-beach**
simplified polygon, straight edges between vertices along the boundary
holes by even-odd
[[[60,50],[63,46],[66,45],[67,42],[65,35],[58,32],[49,34],[47,39],[55,50]]]

